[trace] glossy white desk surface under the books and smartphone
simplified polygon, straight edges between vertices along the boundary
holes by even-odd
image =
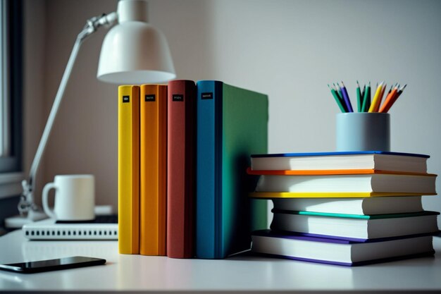
[[[434,246],[435,257],[350,268],[250,256],[204,260],[119,255],[117,241],[28,241],[19,230],[0,237],[0,263],[73,255],[104,258],[107,263],[39,274],[0,271],[0,292],[441,292],[441,238],[434,238]]]

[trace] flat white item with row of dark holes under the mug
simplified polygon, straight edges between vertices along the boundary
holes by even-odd
[[[118,240],[118,216],[98,215],[87,222],[44,219],[25,224],[22,231],[30,240]]]

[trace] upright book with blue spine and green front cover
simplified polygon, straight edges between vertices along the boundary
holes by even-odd
[[[268,97],[224,82],[197,82],[196,256],[218,259],[251,247],[266,228],[266,202],[250,200],[249,156],[267,150]],[[245,196],[245,197],[244,197]]]

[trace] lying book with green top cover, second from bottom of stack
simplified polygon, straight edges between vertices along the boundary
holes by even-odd
[[[273,209],[271,229],[326,235],[352,240],[390,238],[438,231],[439,212],[410,214],[329,214],[323,212],[292,212]]]

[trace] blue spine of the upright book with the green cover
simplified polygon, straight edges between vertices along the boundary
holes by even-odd
[[[197,82],[196,257],[221,258],[222,82]]]

